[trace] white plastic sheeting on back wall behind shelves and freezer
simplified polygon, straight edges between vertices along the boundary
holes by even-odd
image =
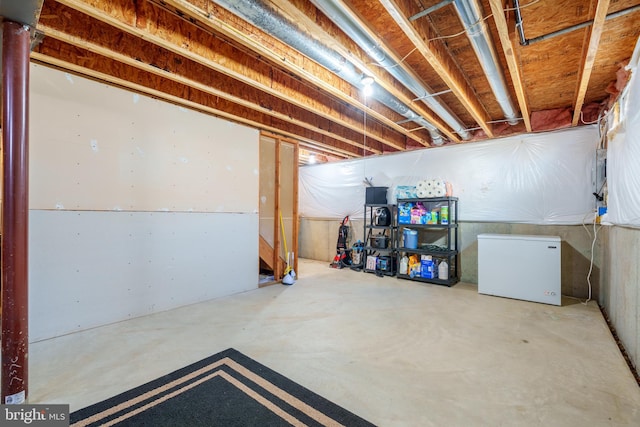
[[[389,187],[388,200],[396,186],[442,179],[459,197],[463,221],[581,224],[595,208],[598,141],[597,128],[583,126],[307,166],[300,170],[300,212],[362,217],[365,177]]]

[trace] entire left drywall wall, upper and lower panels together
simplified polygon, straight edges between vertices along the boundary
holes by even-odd
[[[31,66],[30,341],[257,288],[258,131]]]

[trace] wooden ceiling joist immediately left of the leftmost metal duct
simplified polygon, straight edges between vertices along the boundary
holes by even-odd
[[[78,0],[60,0],[78,1]],[[320,88],[322,91],[331,94],[337,99],[347,103],[348,105],[359,109],[367,110],[367,116],[375,118],[380,123],[388,126],[389,128],[401,133],[406,138],[414,140],[423,146],[430,146],[428,139],[422,138],[410,130],[396,124],[393,119],[390,119],[385,114],[381,114],[378,111],[367,107],[364,101],[354,98],[351,91],[353,88],[348,85],[344,80],[333,75],[328,70],[324,69],[318,64],[310,64],[309,59],[290,60],[289,56],[283,57],[283,51],[286,50],[287,55],[293,55],[294,52],[288,46],[282,44],[278,40],[268,36],[257,28],[251,26],[248,30],[247,26],[250,24],[242,21],[242,26],[234,26],[234,21],[238,18],[231,15],[224,9],[217,8],[213,10],[215,5],[211,2],[203,0],[152,0],[154,3],[158,3],[163,6],[170,6],[173,10],[183,16],[187,16],[190,22],[195,22],[199,27],[205,28],[213,34],[221,34],[224,37],[245,46],[252,52],[256,52],[261,57],[268,59],[269,61],[278,64],[278,66],[288,70],[290,73],[299,76],[301,79],[311,83],[313,86]],[[196,5],[198,3],[198,5]],[[277,46],[274,47],[274,46]],[[295,53],[295,56],[302,57]],[[387,144],[392,146],[390,144]],[[397,150],[404,150],[405,147],[393,147]]]

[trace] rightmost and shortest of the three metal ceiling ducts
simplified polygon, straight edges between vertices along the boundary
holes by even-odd
[[[498,66],[498,55],[496,54],[491,34],[487,29],[487,24],[482,19],[482,10],[477,0],[454,0],[456,12],[462,21],[469,41],[476,52],[480,65],[489,80],[489,85],[493,94],[502,108],[504,117],[510,125],[518,123],[518,114],[511,101],[507,89],[507,83]]]

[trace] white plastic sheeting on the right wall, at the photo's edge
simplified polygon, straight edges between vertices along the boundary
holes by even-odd
[[[638,60],[639,44],[635,61]],[[620,121],[614,124],[607,148],[607,222],[640,226],[640,78],[634,65],[620,101]]]

